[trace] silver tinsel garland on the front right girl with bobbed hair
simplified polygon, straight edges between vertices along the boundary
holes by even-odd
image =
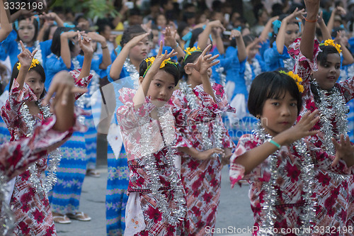
[[[256,130],[253,130],[253,134],[256,135],[259,139],[266,142],[272,139],[272,136],[268,133],[265,133],[264,128],[261,126],[261,123],[258,123],[258,127]],[[301,232],[307,232],[305,229],[309,229],[312,226],[312,223],[315,222],[316,218],[316,200],[312,197],[314,193],[314,163],[312,161],[312,156],[309,154],[307,150],[307,145],[302,141],[298,140],[294,144],[297,153],[302,157],[301,159],[301,174],[300,178],[303,184],[303,194],[302,199],[304,199],[305,203],[302,208],[302,215],[299,215],[302,225],[301,225]],[[270,165],[270,179],[268,182],[263,182],[262,189],[265,191],[264,196],[264,219],[262,225],[262,232],[261,235],[275,235],[274,234],[274,225],[276,220],[275,215],[275,206],[277,203],[278,194],[275,189],[277,185],[278,179],[278,169],[277,169],[277,162],[278,162],[278,154],[279,150],[274,152],[270,155],[269,165]],[[304,233],[303,235],[307,235]]]

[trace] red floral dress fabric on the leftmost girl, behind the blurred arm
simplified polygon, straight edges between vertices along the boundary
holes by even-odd
[[[92,75],[79,79],[79,70],[70,72],[74,78],[76,86],[85,87],[89,84]],[[13,80],[8,100],[1,108],[1,116],[4,119],[8,130],[11,134],[11,141],[19,140],[25,137],[27,133],[27,125],[21,117],[20,108],[25,101],[36,101],[37,98],[28,84],[23,84],[23,89],[18,89],[18,82]],[[79,98],[82,94],[76,94]],[[76,110],[84,114],[81,110]],[[37,123],[44,119],[42,113],[33,116]],[[77,126],[79,130],[84,127]],[[77,129],[77,128],[76,128]],[[48,140],[50,142],[50,140]],[[35,162],[38,168],[38,179],[42,181],[42,172],[47,168],[47,152],[41,152],[41,157]],[[40,196],[32,183],[28,180],[30,177],[29,170],[16,176],[13,194],[11,196],[10,206],[13,207],[13,213],[16,217],[14,235],[57,235],[55,225],[52,219],[52,210],[48,201],[48,197]]]

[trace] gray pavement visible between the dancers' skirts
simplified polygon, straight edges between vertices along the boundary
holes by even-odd
[[[107,184],[107,166],[98,166],[101,177],[86,176],[80,199],[80,210],[91,216],[92,220],[82,222],[72,220],[67,225],[56,224],[58,236],[105,236],[105,188]],[[247,227],[253,225],[253,215],[249,203],[249,186],[230,188],[228,169],[222,170],[222,192],[217,215],[215,235],[249,236]]]

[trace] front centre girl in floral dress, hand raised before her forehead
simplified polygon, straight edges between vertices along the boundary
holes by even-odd
[[[188,233],[184,225],[185,193],[173,160],[173,127],[213,120],[217,113],[229,108],[218,93],[214,94],[207,77],[207,69],[218,63],[212,62],[217,56],[205,55],[210,47],[205,48],[197,63],[188,64],[202,74],[205,91],[195,87],[202,108],[171,109],[166,103],[178,84],[179,70],[178,64],[169,60],[176,55],[173,50],[161,55],[162,43],[156,58],[149,57],[140,64],[138,91],[120,90],[125,106],[118,108],[117,119],[130,167],[125,235]]]

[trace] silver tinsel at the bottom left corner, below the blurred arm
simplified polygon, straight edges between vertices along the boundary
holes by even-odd
[[[15,218],[13,216],[13,211],[10,206],[4,201],[4,193],[8,191],[7,189],[8,178],[0,173],[0,201],[1,201],[1,215],[0,215],[0,235],[9,236],[12,235],[13,227],[15,226],[13,222]]]

